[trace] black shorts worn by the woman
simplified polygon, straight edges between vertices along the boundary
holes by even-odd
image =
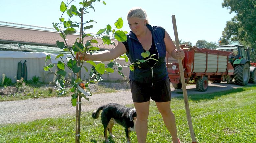
[[[147,102],[150,99],[155,102],[171,101],[171,87],[169,77],[154,83],[139,83],[130,79],[133,102]]]

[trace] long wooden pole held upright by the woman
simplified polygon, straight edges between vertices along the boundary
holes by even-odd
[[[172,15],[171,17],[172,17],[172,24],[173,24],[173,30],[174,30],[174,35],[175,35],[176,48],[177,48],[177,50],[179,50],[180,49],[180,44],[179,44],[178,31],[177,31],[177,25],[176,25],[176,18],[175,18],[175,15]],[[194,133],[192,120],[191,120],[191,116],[190,116],[189,101],[188,101],[188,94],[187,94],[186,83],[185,83],[185,78],[184,78],[182,59],[179,58],[178,62],[179,62],[181,85],[182,85],[182,91],[183,91],[183,98],[184,98],[184,103],[185,103],[187,121],[188,121],[188,124],[189,124],[190,136],[191,136],[191,139],[192,139],[192,143],[196,143],[195,133]]]

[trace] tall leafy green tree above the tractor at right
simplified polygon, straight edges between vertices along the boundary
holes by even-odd
[[[256,1],[255,0],[224,0],[222,7],[235,12],[222,32],[221,45],[228,45],[229,41],[238,40],[244,46],[256,47]],[[255,51],[252,59],[255,59]]]

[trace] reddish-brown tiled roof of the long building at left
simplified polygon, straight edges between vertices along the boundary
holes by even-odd
[[[36,27],[36,26],[32,26],[32,27]],[[47,29],[50,29],[50,28],[47,28]],[[68,34],[66,36],[68,45],[72,46],[77,38],[79,38],[78,34]],[[84,41],[87,41],[90,39],[91,37],[85,37]],[[33,29],[33,28],[27,28],[27,27],[17,27],[17,26],[10,26],[10,25],[0,25],[0,43],[19,43],[23,45],[39,45],[39,46],[48,46],[48,47],[57,48],[56,46],[57,40],[64,42],[64,40],[61,38],[61,36],[57,31]],[[98,41],[98,44],[94,44],[93,46],[98,46],[101,43],[103,43],[102,39],[100,38],[96,40]],[[112,39],[112,41],[115,42],[115,44],[117,43],[117,40],[115,39]],[[107,50],[113,47],[114,45],[106,45],[106,44],[104,45],[102,44],[99,46],[101,50]]]

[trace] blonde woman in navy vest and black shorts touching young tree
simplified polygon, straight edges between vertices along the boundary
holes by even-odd
[[[126,53],[130,62],[135,63],[143,59],[142,52],[149,51],[156,54],[149,60],[135,65],[134,71],[130,71],[130,87],[132,99],[137,112],[135,125],[139,143],[146,142],[147,119],[149,115],[149,100],[156,102],[156,106],[162,115],[164,123],[172,136],[172,142],[178,143],[177,129],[174,114],[170,108],[171,91],[170,81],[165,63],[166,51],[174,58],[184,58],[183,50],[176,47],[169,34],[162,27],[152,27],[148,24],[145,10],[133,8],[127,14],[127,21],[131,29],[127,34],[126,42],[118,42],[110,50],[92,55],[87,54],[84,60],[109,61]],[[83,55],[79,55],[83,57]]]

